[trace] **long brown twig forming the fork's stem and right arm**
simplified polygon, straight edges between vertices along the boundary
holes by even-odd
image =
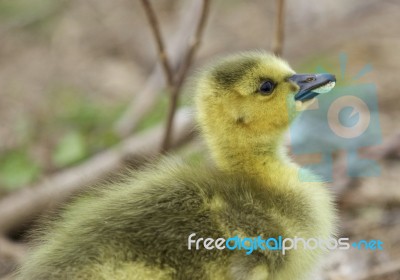
[[[174,115],[177,107],[179,93],[183,84],[183,81],[186,77],[187,71],[189,70],[190,65],[192,64],[194,55],[200,46],[201,38],[203,35],[204,27],[208,18],[209,9],[210,8],[210,1],[203,0],[203,5],[201,9],[201,16],[195,31],[195,34],[190,42],[189,48],[186,52],[185,58],[182,62],[182,65],[178,71],[176,82],[174,83],[174,87],[171,90],[171,97],[170,103],[168,108],[168,117],[167,117],[167,124],[165,129],[165,134],[163,138],[163,144],[161,146],[161,151],[166,152],[170,148],[170,138],[171,138],[171,131],[173,129],[173,121]]]

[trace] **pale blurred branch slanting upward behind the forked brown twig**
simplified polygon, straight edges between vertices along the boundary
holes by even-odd
[[[187,49],[187,38],[195,31],[199,20],[198,11],[201,1],[187,1],[181,10],[181,19],[176,24],[176,32],[170,42],[167,42],[167,50],[172,69],[178,69],[183,60],[182,53]],[[115,130],[121,137],[127,137],[135,130],[142,118],[154,107],[161,89],[162,67],[157,63],[152,73],[144,83],[144,87],[135,95],[124,114],[115,124]]]

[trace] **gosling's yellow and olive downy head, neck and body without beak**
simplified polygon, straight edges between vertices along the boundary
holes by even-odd
[[[287,63],[244,53],[196,80],[200,129],[215,166],[166,158],[71,203],[37,234],[19,279],[302,279],[320,250],[188,250],[188,236],[327,239],[332,196],[299,180],[282,148],[298,89]],[[277,83],[271,96],[260,81]],[[291,102],[291,101],[290,101]],[[304,178],[303,178],[304,179]],[[309,174],[309,181],[317,181]]]

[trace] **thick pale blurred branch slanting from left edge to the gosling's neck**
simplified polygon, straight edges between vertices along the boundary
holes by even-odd
[[[193,121],[188,109],[179,110],[172,138],[173,146],[190,139]],[[86,162],[61,171],[36,186],[27,187],[0,200],[0,234],[9,233],[32,221],[47,209],[54,209],[72,194],[82,190],[111,172],[118,171],[127,157],[152,157],[161,145],[164,126],[127,138],[116,147]]]

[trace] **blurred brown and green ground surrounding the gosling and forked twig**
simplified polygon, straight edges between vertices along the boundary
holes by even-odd
[[[211,0],[188,76],[215,56],[276,44],[275,0]],[[173,69],[199,19],[200,0],[151,1]],[[400,2],[286,0],[282,56],[297,72],[323,67],[377,87],[382,143],[363,149],[379,177],[349,178],[334,153],[340,236],[384,250],[331,252],[314,279],[400,279]],[[139,167],[159,151],[169,96],[140,1],[0,0],[0,279],[23,260],[26,232],[85,186]],[[366,65],[372,71],[356,82]],[[183,87],[173,153],[203,160]],[[304,163],[313,156],[296,157]],[[114,174],[114,175],[113,175]]]

